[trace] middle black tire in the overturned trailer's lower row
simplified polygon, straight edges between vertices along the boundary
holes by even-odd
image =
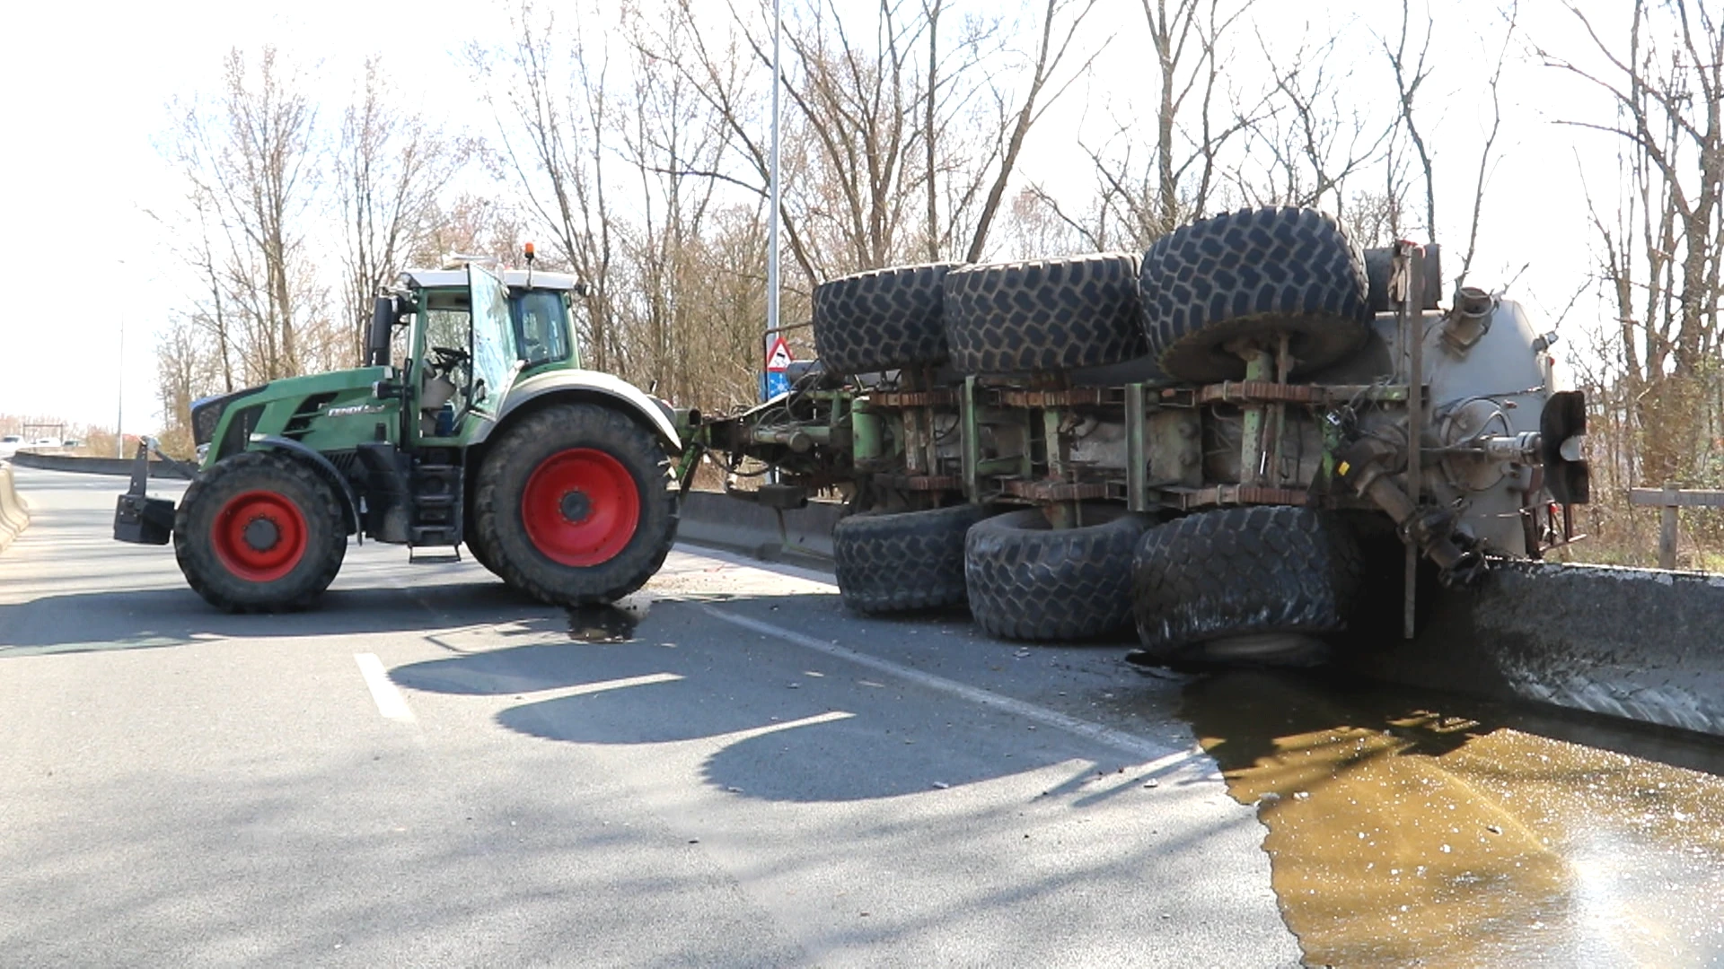
[[[1131,560],[1148,516],[1083,509],[1079,528],[1050,528],[1041,509],[981,521],[964,540],[971,617],[1007,640],[1090,640],[1131,624]]]

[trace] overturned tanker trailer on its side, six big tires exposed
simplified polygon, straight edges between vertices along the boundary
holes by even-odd
[[[852,609],[967,603],[1015,640],[1134,624],[1148,662],[1317,662],[1571,541],[1588,500],[1553,336],[1484,290],[1440,305],[1438,255],[1246,209],[1143,253],[833,279],[819,360],[696,443],[772,471],[738,497],[845,498]]]

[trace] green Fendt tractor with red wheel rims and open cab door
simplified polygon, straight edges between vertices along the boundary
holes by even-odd
[[[581,284],[531,259],[407,271],[376,300],[367,366],[197,402],[179,507],[145,493],[140,447],[114,538],[172,541],[191,588],[238,612],[310,605],[348,536],[407,545],[414,562],[459,560],[465,543],[559,605],[640,588],[676,538],[690,414],[583,369]]]

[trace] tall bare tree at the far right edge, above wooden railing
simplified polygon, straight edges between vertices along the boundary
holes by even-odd
[[[1705,0],[1636,0],[1626,38],[1571,14],[1591,48],[1540,50],[1545,64],[1608,97],[1614,119],[1564,119],[1617,141],[1621,202],[1590,198],[1600,281],[1615,312],[1629,462],[1648,481],[1708,481],[1724,436],[1719,286],[1724,260],[1724,29]]]

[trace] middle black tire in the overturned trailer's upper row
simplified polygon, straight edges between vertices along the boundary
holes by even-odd
[[[946,272],[946,343],[964,374],[1062,372],[1145,352],[1136,253]]]

